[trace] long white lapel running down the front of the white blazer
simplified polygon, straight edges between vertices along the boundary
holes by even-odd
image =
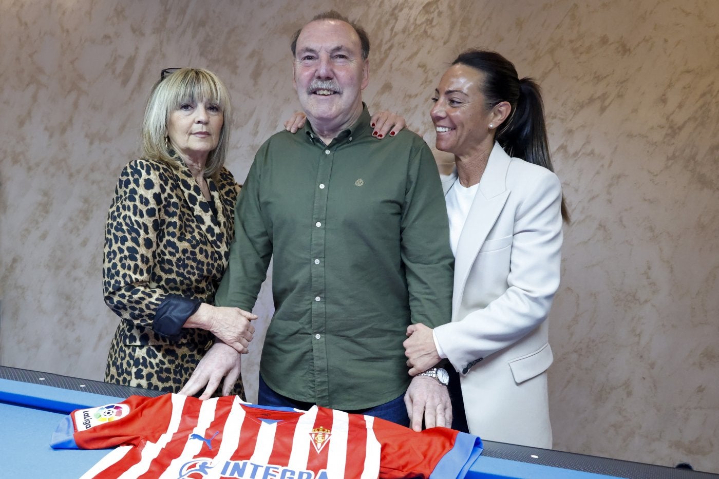
[[[470,214],[464,222],[462,234],[457,244],[457,257],[454,259],[454,294],[452,295],[452,312],[459,310],[462,303],[462,294],[472,265],[475,263],[477,253],[487,239],[487,234],[497,222],[497,219],[509,197],[506,186],[507,170],[510,158],[495,142],[487,160],[487,168],[482,173],[480,186],[472,201]],[[457,178],[454,175],[454,178]],[[453,183],[453,182],[452,182]],[[452,185],[449,183],[449,186]],[[444,187],[444,181],[442,186]],[[445,189],[449,191],[449,187]]]

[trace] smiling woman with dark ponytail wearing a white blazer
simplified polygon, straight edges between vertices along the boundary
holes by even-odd
[[[546,317],[567,215],[539,87],[501,55],[472,50],[444,73],[433,101],[436,148],[456,165],[443,178],[456,258],[452,322],[408,328],[410,374],[446,358],[472,434],[550,448]]]

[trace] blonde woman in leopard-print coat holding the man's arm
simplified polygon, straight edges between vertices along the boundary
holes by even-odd
[[[223,167],[230,113],[207,70],[163,76],[150,95],[142,159],[122,170],[107,219],[104,296],[121,318],[107,382],[176,393],[213,342],[247,352],[256,316],[212,306],[239,193]],[[232,371],[223,393],[244,396],[239,360]]]

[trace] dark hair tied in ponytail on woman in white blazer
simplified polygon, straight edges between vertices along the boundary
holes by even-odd
[[[554,171],[546,137],[544,104],[539,85],[531,78],[519,79],[513,63],[499,53],[485,50],[467,50],[452,65],[467,65],[484,73],[482,94],[487,109],[502,101],[512,106],[510,116],[497,129],[495,140],[508,155]],[[562,194],[562,219],[569,223],[569,212]]]

